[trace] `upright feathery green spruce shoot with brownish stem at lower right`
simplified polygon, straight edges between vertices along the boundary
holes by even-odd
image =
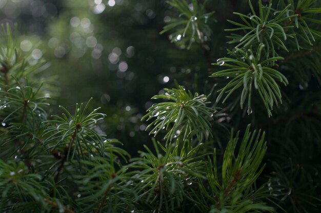
[[[260,210],[272,212],[273,208],[262,202],[264,197],[268,196],[268,191],[264,190],[264,187],[256,190],[253,194],[248,191],[264,169],[261,162],[267,150],[266,142],[264,142],[265,133],[261,134],[260,131],[251,133],[250,125],[248,125],[238,148],[238,154],[234,157],[236,144],[239,140],[238,136],[239,132],[235,137],[233,137],[233,131],[231,132],[224,152],[222,177],[218,176],[215,151],[214,165],[209,160],[207,180],[214,195],[214,197],[206,195],[214,205],[210,212],[219,212],[223,209],[229,212]],[[207,194],[205,186],[200,186],[202,192]]]

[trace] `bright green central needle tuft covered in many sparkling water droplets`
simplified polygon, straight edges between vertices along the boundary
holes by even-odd
[[[165,94],[154,96],[152,99],[167,99],[172,102],[164,102],[153,105],[148,109],[148,113],[143,120],[149,121],[156,117],[146,129],[155,126],[151,133],[155,136],[165,129],[168,133],[164,139],[171,141],[175,137],[182,136],[183,140],[187,140],[196,135],[199,141],[212,135],[210,131],[210,122],[213,108],[207,107],[207,97],[202,94],[187,92],[184,87],[179,86],[178,89],[164,89]]]

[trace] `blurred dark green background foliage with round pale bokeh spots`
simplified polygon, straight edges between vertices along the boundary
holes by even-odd
[[[154,94],[177,83],[210,93],[215,84],[207,78],[213,73],[210,63],[225,51],[221,44],[227,41],[224,20],[235,8],[247,8],[245,2],[207,4],[209,12],[219,6],[218,21],[207,20],[214,33],[190,50],[169,42],[173,35],[159,35],[178,15],[163,0],[1,0],[0,20],[17,23],[21,49],[33,50],[30,60],[47,61],[42,78],[56,86],[50,91],[56,103],[74,108],[93,97],[92,105],[107,114],[101,130],[135,155],[149,140],[141,117]],[[53,107],[51,113],[61,111]]]

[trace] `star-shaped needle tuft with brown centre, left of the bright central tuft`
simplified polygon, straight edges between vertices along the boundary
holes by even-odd
[[[85,151],[87,156],[104,156],[104,141],[106,139],[92,129],[99,120],[104,119],[105,114],[97,113],[96,111],[99,109],[97,108],[86,116],[85,112],[91,100],[88,101],[86,106],[76,104],[74,116],[61,106],[65,112],[62,117],[53,115],[55,120],[45,121],[44,123],[50,126],[44,132],[43,145],[48,146],[49,150],[67,149],[67,160],[74,157],[77,159],[85,158]]]

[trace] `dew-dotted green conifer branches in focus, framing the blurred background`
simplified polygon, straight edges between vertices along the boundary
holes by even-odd
[[[160,32],[180,49],[198,46],[209,65],[210,2],[169,0],[178,15]],[[106,114],[92,99],[52,113],[45,60],[3,25],[0,211],[319,212],[320,2],[248,3],[249,14],[228,20],[210,90],[152,97],[142,120],[153,137],[138,157],[98,131]]]

